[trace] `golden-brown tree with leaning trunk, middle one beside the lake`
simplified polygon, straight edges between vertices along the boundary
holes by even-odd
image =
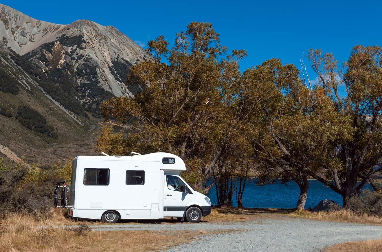
[[[317,160],[336,136],[344,134],[343,118],[320,87],[306,86],[294,65],[267,60],[243,74],[243,82],[263,98],[257,100],[261,116],[253,124],[262,130],[254,137],[255,149],[283,182],[295,181],[300,194],[297,209],[304,209],[308,196],[308,170],[317,170]],[[245,98],[250,99],[250,98]]]

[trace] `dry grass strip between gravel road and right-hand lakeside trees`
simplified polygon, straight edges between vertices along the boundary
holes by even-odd
[[[377,224],[382,225],[382,218],[376,215],[357,214],[348,210],[317,212],[312,213],[307,210],[296,210],[289,215],[295,217],[312,218],[318,220],[343,221],[353,223]]]

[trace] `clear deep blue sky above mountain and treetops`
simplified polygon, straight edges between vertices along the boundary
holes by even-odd
[[[299,68],[299,58],[309,48],[332,52],[342,62],[354,45],[382,46],[382,3],[379,1],[0,2],[52,23],[69,24],[77,19],[89,19],[112,25],[144,44],[161,34],[172,44],[175,33],[185,29],[191,21],[210,22],[229,50],[248,51],[248,57],[240,62],[241,69],[272,57]]]

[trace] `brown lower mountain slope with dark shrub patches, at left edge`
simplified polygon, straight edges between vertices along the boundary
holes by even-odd
[[[26,69],[26,70],[24,70]],[[99,119],[80,103],[64,108],[42,88],[53,85],[40,69],[0,42],[0,158],[52,165],[92,154]],[[56,89],[64,96],[63,90]],[[94,153],[93,153],[94,154]]]

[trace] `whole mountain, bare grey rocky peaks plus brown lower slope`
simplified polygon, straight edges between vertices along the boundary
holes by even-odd
[[[0,157],[52,165],[91,154],[99,104],[139,92],[124,82],[145,59],[115,27],[53,24],[0,4]]]

